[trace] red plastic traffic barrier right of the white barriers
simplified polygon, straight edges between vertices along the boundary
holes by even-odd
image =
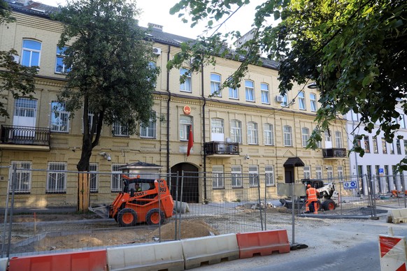
[[[253,233],[237,233],[239,258],[250,258],[255,254],[261,256],[290,252],[287,230],[264,230]]]

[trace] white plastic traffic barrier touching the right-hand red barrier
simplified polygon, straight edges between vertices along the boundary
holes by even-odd
[[[239,258],[236,234],[206,236],[181,240],[185,269],[199,268],[202,263],[210,265]]]

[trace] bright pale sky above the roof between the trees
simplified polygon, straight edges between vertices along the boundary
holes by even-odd
[[[64,5],[65,0],[34,0],[50,6],[57,6],[58,3]],[[188,38],[196,38],[204,30],[203,24],[199,24],[193,29],[190,24],[181,22],[178,15],[170,15],[169,9],[178,3],[179,0],[137,0],[136,5],[143,10],[143,14],[138,18],[141,27],[147,27],[149,22],[163,26],[163,31]],[[255,7],[264,0],[252,0],[248,6],[241,8],[227,21],[220,29],[222,33],[231,30],[241,31],[245,34],[252,29],[252,19],[255,15]]]

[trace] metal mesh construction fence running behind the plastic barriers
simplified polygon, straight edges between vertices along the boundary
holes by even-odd
[[[78,214],[78,172],[58,169],[0,168],[1,175],[7,172],[9,176],[8,182],[1,183],[0,190],[4,210],[1,256],[97,249],[281,227],[290,230],[292,224],[292,210],[282,206],[277,185],[270,175],[125,173],[131,177],[139,175],[141,179],[166,180],[174,200],[174,212],[159,226],[139,223],[124,228],[117,223],[117,217],[101,218],[91,212]],[[121,174],[90,173],[92,207],[113,203],[123,188]],[[387,177],[401,181],[387,182],[389,191],[383,193],[378,187],[385,187]],[[322,180],[334,184],[339,200],[335,210],[322,210],[318,216],[378,217],[381,207],[406,207],[406,193],[401,192],[405,191],[404,180],[407,178],[366,175]],[[397,194],[390,190],[392,184]],[[141,186],[142,191],[148,189],[148,184]],[[161,196],[158,193],[158,200]],[[297,205],[294,211],[303,214],[304,205]],[[17,212],[20,212],[18,219]],[[285,223],[276,224],[276,217],[283,217]]]

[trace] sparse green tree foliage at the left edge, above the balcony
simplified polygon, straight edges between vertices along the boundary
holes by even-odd
[[[0,24],[14,22],[15,18],[11,16],[10,7],[6,1],[0,0]],[[31,97],[34,93],[34,76],[37,73],[37,67],[21,66],[14,61],[17,51],[10,49],[0,51],[0,93],[3,91],[11,93],[13,98],[21,96]],[[0,101],[0,115],[9,117],[7,108]]]

